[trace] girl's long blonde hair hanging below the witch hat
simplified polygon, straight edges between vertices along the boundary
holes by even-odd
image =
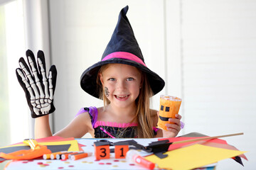
[[[104,107],[110,104],[104,93],[104,88],[100,81],[100,74],[109,67],[109,64],[103,65],[97,74],[97,89],[99,92],[100,99],[103,100]],[[134,115],[134,120],[137,120],[136,136],[139,138],[151,138],[154,137],[153,131],[153,120],[150,111],[150,98],[153,96],[151,87],[149,85],[149,80],[146,77],[146,73],[138,69],[142,74],[142,88],[139,91],[139,96],[135,103],[137,106],[136,113]]]

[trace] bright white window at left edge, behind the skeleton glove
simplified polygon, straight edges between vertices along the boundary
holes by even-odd
[[[0,147],[29,137],[28,106],[15,74],[25,55],[23,23],[21,0],[0,4]]]

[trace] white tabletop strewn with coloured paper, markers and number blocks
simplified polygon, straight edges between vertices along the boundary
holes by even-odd
[[[222,159],[242,164],[245,152],[220,137],[191,133],[149,139],[74,139],[46,137],[0,148],[0,162],[8,169],[210,169]],[[242,158],[242,159],[241,159]],[[186,164],[184,164],[186,162]],[[26,164],[25,164],[26,163]],[[61,164],[61,166],[60,166]],[[51,167],[51,168],[50,168]]]

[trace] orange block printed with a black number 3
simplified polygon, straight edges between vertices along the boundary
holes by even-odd
[[[110,159],[110,142],[94,142],[95,159]]]

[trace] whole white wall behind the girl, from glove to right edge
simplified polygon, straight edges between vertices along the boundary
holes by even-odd
[[[166,80],[159,95],[183,98],[181,134],[245,135],[225,138],[248,151],[244,169],[256,166],[256,2],[225,1],[50,1],[53,64],[58,69],[55,132],[85,106],[102,106],[80,88],[80,75],[100,61],[121,8],[146,65]],[[242,169],[231,159],[217,169]]]

